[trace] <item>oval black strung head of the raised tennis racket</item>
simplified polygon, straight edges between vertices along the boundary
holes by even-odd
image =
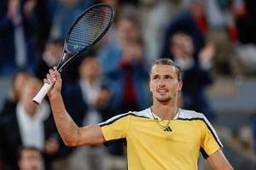
[[[73,22],[64,42],[64,52],[78,57],[92,47],[108,31],[113,23],[113,8],[106,3],[98,3],[87,8]]]

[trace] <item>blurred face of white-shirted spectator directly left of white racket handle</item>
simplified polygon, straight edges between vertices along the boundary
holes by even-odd
[[[30,116],[34,116],[38,109],[38,105],[34,104],[32,99],[38,94],[42,86],[43,84],[36,78],[30,78],[23,86],[21,101]]]

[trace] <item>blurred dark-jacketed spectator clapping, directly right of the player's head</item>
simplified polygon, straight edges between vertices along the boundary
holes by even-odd
[[[183,100],[184,109],[201,112],[212,121],[214,115],[208,103],[205,88],[212,83],[212,57],[214,47],[208,44],[198,56],[193,58],[195,46],[189,35],[178,32],[172,37],[170,51],[174,61],[183,69]]]

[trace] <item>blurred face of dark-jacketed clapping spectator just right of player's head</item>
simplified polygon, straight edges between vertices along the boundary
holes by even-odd
[[[172,37],[171,53],[175,57],[193,56],[195,51],[191,37],[186,34],[178,33]]]

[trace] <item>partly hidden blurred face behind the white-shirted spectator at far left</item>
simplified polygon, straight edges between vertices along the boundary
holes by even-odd
[[[13,83],[13,92],[15,95],[15,100],[19,100],[20,99],[20,94],[23,90],[24,87],[24,83],[26,82],[26,80],[30,77],[30,74],[28,72],[19,72],[17,73],[14,83]]]

